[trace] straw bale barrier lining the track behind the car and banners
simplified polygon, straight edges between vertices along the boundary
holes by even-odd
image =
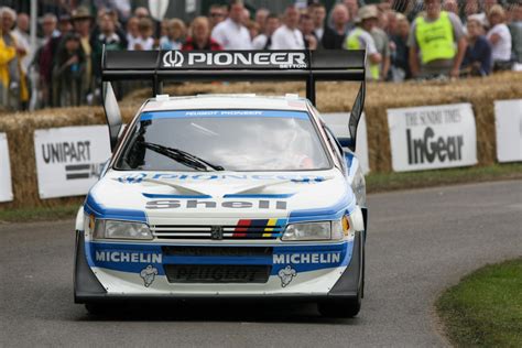
[[[366,115],[370,167],[374,172],[391,171],[390,137],[387,109],[415,106],[470,102],[477,120],[477,146],[480,165],[496,162],[494,100],[522,98],[522,73],[504,73],[488,78],[457,81],[427,81],[405,84],[369,84]],[[317,84],[317,102],[322,112],[342,112],[351,109],[358,91],[354,83]],[[260,95],[305,95],[302,83],[285,84],[183,84],[165,88],[174,96],[197,94],[255,93]],[[123,120],[129,122],[150,89],[135,90],[120,104]],[[37,193],[36,163],[34,157],[34,130],[105,124],[101,107],[45,109],[36,112],[0,113],[0,132],[8,133],[11,157],[14,202],[0,204],[0,209],[79,203],[81,198],[41,200]]]

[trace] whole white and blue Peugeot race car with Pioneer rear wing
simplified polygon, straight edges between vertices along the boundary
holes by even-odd
[[[77,216],[76,303],[284,300],[357,315],[363,51],[107,52],[102,78],[112,156]],[[120,134],[111,81],[129,78],[150,79],[156,97]],[[304,80],[307,98],[168,97],[167,79]],[[316,80],[361,83],[350,138],[314,107]]]

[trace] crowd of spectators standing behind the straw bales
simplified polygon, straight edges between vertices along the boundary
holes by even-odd
[[[522,62],[522,4],[497,0],[342,0],[329,13],[320,1],[284,13],[250,11],[242,1],[214,4],[191,23],[152,20],[137,8],[77,7],[39,19],[36,50],[30,18],[0,8],[0,106],[4,109],[99,101],[106,50],[367,50],[369,80],[489,75]],[[406,3],[407,6],[404,6]],[[460,4],[460,6],[459,6]]]

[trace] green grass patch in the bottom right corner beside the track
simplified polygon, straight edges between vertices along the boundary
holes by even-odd
[[[447,290],[436,308],[457,347],[522,347],[522,258],[487,265]]]

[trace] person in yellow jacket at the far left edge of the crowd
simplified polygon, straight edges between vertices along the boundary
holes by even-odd
[[[17,45],[11,34],[15,19],[12,9],[0,9],[0,107],[4,109],[20,109],[29,101],[28,84],[20,65],[26,52]]]

